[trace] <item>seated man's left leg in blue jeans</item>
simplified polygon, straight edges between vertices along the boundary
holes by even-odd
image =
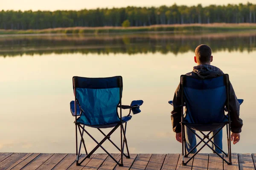
[[[193,130],[195,132],[195,130]],[[195,134],[185,126],[185,138],[186,138],[186,150],[189,152],[196,145]],[[191,153],[196,153],[197,149],[195,148]]]

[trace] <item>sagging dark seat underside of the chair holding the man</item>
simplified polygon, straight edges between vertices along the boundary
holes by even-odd
[[[191,128],[193,130],[197,130],[197,131],[201,131],[201,132],[208,132],[208,131],[214,131],[214,130],[220,129],[223,125],[226,125],[228,123],[228,121],[223,122],[223,123],[212,123],[212,124],[208,124],[208,125],[191,124],[191,123],[187,123],[187,122],[182,122],[182,123],[184,125],[187,125],[189,128]]]

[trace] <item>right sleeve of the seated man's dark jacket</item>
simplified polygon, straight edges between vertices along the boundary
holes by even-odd
[[[243,120],[239,118],[240,105],[231,83],[229,83],[229,106],[230,120],[232,121],[230,125],[231,131],[233,133],[240,133],[243,126]]]

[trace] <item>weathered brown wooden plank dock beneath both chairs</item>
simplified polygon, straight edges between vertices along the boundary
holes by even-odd
[[[76,166],[75,158],[73,153],[0,153],[0,170],[256,170],[256,154],[251,153],[233,153],[232,165],[213,153],[198,154],[187,166],[182,166],[180,154],[131,154],[123,159],[123,167],[103,153],[92,155],[81,166]]]

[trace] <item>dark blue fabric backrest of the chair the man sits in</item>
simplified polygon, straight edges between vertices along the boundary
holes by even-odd
[[[183,81],[183,102],[186,105],[186,122],[208,125],[227,121],[227,116],[224,114],[228,95],[227,74],[210,79],[182,76],[181,81]]]

